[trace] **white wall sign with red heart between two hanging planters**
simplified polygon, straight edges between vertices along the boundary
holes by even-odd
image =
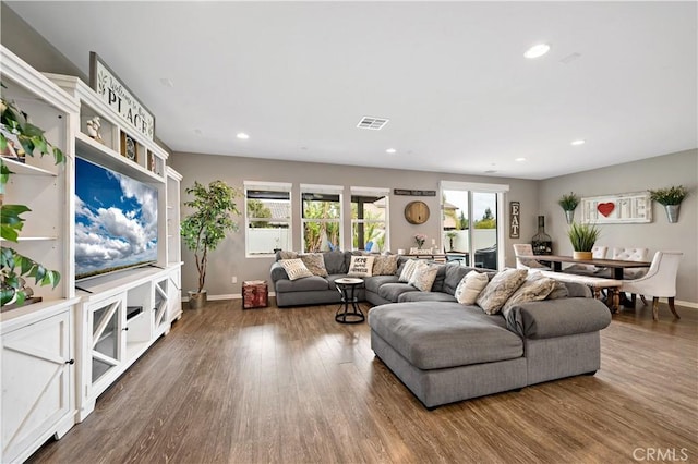
[[[649,192],[581,198],[581,222],[597,224],[652,222]]]

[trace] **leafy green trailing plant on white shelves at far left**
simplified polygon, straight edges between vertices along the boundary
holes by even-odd
[[[65,162],[63,152],[46,139],[44,131],[32,124],[24,111],[20,110],[13,101],[0,98],[0,154],[23,162],[24,157],[33,157],[35,150],[38,150],[40,156],[51,154],[57,164]],[[16,243],[24,225],[24,218],[21,215],[31,209],[25,205],[4,204],[4,187],[11,174],[12,171],[0,158],[1,236],[3,240]],[[4,245],[0,254],[0,277],[2,278],[0,284],[0,305],[2,306],[10,304],[22,306],[27,297],[33,296],[34,291],[27,286],[25,278],[33,278],[37,285],[52,285],[52,288],[56,288],[61,279],[60,272],[46,269],[40,262]]]

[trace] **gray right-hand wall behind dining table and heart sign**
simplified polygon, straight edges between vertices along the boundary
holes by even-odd
[[[650,251],[678,249],[684,257],[678,268],[676,300],[698,303],[698,150],[649,158],[592,171],[547,179],[540,182],[540,211],[546,217],[545,231],[553,237],[553,252],[571,254],[566,237],[567,223],[557,199],[570,191],[585,196],[640,192],[679,185],[690,190],[682,203],[677,223],[670,224],[662,205],[654,204],[652,222],[601,225],[600,244],[637,246]],[[579,208],[576,217],[579,218]]]

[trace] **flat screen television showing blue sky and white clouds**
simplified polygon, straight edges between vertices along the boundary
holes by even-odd
[[[75,159],[75,280],[157,261],[157,188]]]

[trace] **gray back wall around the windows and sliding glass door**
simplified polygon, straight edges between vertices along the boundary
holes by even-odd
[[[345,207],[348,207],[349,186],[383,187],[383,188],[409,188],[438,191],[438,181],[480,182],[488,184],[508,184],[509,193],[505,195],[505,204],[509,200],[521,203],[521,239],[530,240],[535,233],[535,215],[538,210],[538,182],[520,179],[503,179],[489,176],[454,175],[446,173],[407,171],[399,169],[358,168],[350,166],[334,166],[322,163],[308,163],[278,160],[257,160],[253,158],[224,157],[198,154],[176,152],[170,158],[172,167],[180,172],[182,181],[182,202],[189,199],[184,188],[191,186],[196,180],[209,183],[214,180],[226,181],[229,185],[242,191],[243,181],[269,181],[289,182],[293,184],[293,248],[301,247],[299,184],[344,185]],[[405,206],[414,199],[421,199],[429,205],[430,219],[421,225],[408,223],[404,217]],[[243,210],[243,202],[240,200],[240,209]],[[431,239],[440,242],[441,219],[440,198],[412,197],[392,195],[389,198],[389,234],[390,248],[414,246],[413,235],[423,233],[428,235],[426,246]],[[182,216],[186,210],[182,209]],[[508,218],[501,218],[505,227]],[[240,294],[242,280],[268,279],[272,258],[245,258],[244,253],[244,218],[239,218],[240,232],[231,234],[209,257],[206,272],[206,289],[209,295]],[[345,246],[348,248],[350,231],[345,224]],[[508,234],[507,234],[508,236]],[[518,242],[518,241],[515,241]],[[509,239],[502,245],[506,255],[507,266],[515,266],[512,243]],[[184,267],[182,269],[182,290],[195,288],[197,273],[193,261],[193,254],[186,248],[182,249]],[[238,283],[231,283],[231,277],[238,277]]]

